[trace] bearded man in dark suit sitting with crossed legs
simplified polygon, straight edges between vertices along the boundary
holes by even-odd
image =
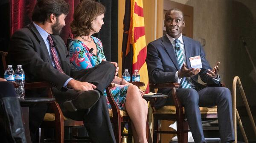
[[[117,64],[102,62],[85,70],[78,70],[70,64],[67,48],[58,36],[68,12],[69,5],[64,0],[38,0],[33,22],[12,35],[9,59],[14,65],[22,64],[26,82],[51,83],[64,115],[84,121],[94,143],[115,143],[106,99],[102,94],[113,81]],[[26,92],[26,96],[29,95],[46,96],[46,92]],[[32,133],[38,129],[46,109],[45,104],[30,109]]]

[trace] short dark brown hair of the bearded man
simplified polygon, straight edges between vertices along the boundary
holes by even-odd
[[[32,15],[32,20],[35,22],[44,23],[51,14],[56,17],[61,14],[67,15],[69,12],[69,4],[64,0],[38,0]]]

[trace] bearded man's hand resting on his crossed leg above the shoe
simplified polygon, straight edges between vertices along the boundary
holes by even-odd
[[[76,90],[76,91],[87,91],[87,90],[93,90],[96,88],[96,86],[94,84],[90,84],[88,82],[77,81],[75,79],[71,79],[67,83],[67,86],[71,87],[73,90]]]

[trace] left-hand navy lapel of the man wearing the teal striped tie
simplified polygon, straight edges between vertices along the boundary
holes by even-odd
[[[162,45],[165,48],[165,50],[167,51],[168,55],[170,56],[170,58],[172,59],[172,62],[174,63],[175,67],[180,70],[180,67],[178,65],[178,61],[177,61],[177,57],[174,51],[174,48],[172,46],[172,43],[170,42],[170,40],[168,39],[168,37],[166,35],[164,35],[162,38]]]

